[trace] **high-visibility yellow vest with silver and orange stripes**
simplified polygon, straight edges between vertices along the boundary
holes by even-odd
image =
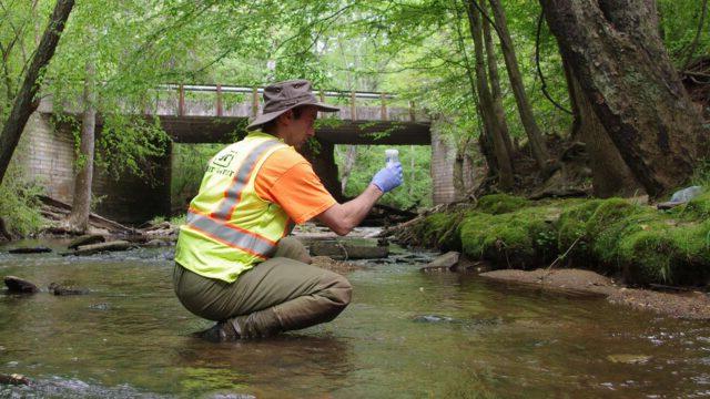
[[[254,181],[268,155],[283,147],[283,141],[256,131],[210,160],[186,224],[180,227],[175,262],[233,283],[273,255],[293,224],[278,204],[256,195]]]

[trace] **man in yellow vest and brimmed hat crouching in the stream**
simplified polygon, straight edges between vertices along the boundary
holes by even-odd
[[[217,321],[201,336],[215,341],[266,337],[329,321],[345,309],[345,277],[310,265],[287,237],[312,218],[349,233],[376,201],[402,184],[402,166],[383,168],[355,200],[338,204],[296,149],[315,134],[318,103],[311,83],[264,89],[264,111],[244,140],[209,163],[190,203],[175,249],[173,286],[183,306]]]

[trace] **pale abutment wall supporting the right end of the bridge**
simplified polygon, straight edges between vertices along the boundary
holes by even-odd
[[[454,162],[456,143],[444,134],[445,121],[432,121],[432,196],[434,205],[456,201],[454,188]]]

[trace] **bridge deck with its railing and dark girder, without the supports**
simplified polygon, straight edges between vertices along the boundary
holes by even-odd
[[[144,110],[126,112],[158,116],[175,142],[230,142],[243,135],[247,121],[262,112],[261,92],[258,88],[165,85],[155,91],[155,99]],[[392,106],[396,100],[386,93],[317,93],[321,101],[341,109],[321,115],[316,125],[321,140],[333,144],[430,144],[430,122],[410,102]],[[79,110],[81,105],[63,109],[70,114],[79,114]],[[53,112],[51,96],[43,98],[40,112]]]

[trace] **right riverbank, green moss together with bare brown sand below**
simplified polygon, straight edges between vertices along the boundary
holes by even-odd
[[[604,294],[612,303],[710,319],[708,216],[709,193],[667,211],[639,198],[529,201],[495,194],[442,208],[394,233],[408,246],[483,260],[493,270],[481,273],[486,278]],[[659,286],[680,294],[648,289]]]

